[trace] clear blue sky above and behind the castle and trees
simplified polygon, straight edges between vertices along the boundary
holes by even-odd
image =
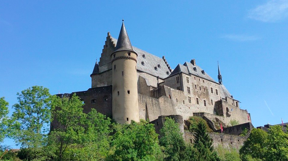
[[[255,127],[288,122],[287,0],[2,1],[0,97],[10,112],[16,93],[33,85],[51,94],[90,88],[122,16],[132,45],[164,55],[172,68],[196,59],[217,80],[219,60],[223,84]]]

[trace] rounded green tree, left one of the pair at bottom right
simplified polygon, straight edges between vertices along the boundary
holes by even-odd
[[[239,150],[241,157],[250,155],[252,158],[265,159],[266,140],[268,134],[261,129],[252,129],[249,137]]]

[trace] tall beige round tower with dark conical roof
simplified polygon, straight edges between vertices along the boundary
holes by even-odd
[[[139,122],[137,92],[137,53],[129,40],[124,20],[117,40],[112,62],[112,116],[120,123]]]

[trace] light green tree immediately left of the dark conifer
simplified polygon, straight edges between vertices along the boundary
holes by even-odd
[[[198,153],[187,144],[180,132],[179,125],[171,118],[165,118],[160,130],[160,144],[165,147],[166,159],[171,161],[197,160]]]

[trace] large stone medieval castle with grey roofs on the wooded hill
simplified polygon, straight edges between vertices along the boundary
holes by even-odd
[[[240,102],[223,85],[219,65],[218,81],[197,66],[194,59],[178,64],[173,70],[164,56],[159,58],[131,45],[124,20],[118,39],[108,32],[100,61],[96,61],[90,76],[90,89],[73,92],[84,101],[85,113],[95,108],[121,124],[150,120],[156,130],[163,116],[174,117],[187,141],[192,136],[184,132],[184,126],[190,116],[204,118],[214,132],[219,132],[220,124],[223,125],[223,134],[218,133],[222,135],[221,141],[220,137],[212,136],[216,134],[210,134],[214,142],[217,138],[223,142],[227,137],[224,135],[229,134],[228,144],[232,144],[232,137],[235,142],[243,143],[245,137],[240,141],[237,135],[243,126],[253,128],[250,114],[240,109]],[[58,96],[64,95],[71,94]],[[229,127],[231,120],[240,124],[233,127],[235,135]],[[51,128],[54,126],[51,123]]]

